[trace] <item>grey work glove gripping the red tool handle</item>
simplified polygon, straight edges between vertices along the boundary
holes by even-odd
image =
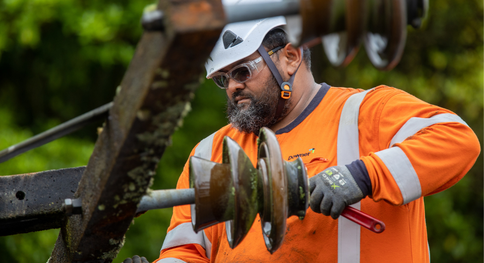
[[[363,198],[363,193],[346,166],[332,166],[309,179],[310,207],[336,219],[346,206]]]

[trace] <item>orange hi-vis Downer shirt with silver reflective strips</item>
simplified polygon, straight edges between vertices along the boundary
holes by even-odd
[[[347,156],[337,153],[342,144],[351,143],[341,131],[345,123],[340,120],[347,111],[343,108],[353,107],[357,127],[353,141],[359,147],[354,160],[359,157],[365,163],[372,188],[357,208],[385,222],[383,233],[359,226],[348,232],[338,224],[342,217],[333,220],[308,209],[303,220],[287,219],[284,241],[273,254],[264,244],[259,216],[244,240],[231,249],[224,223],[195,234],[190,206],[185,205],[173,208],[155,262],[430,262],[423,197],[457,183],[474,164],[479,142],[451,111],[392,87],[363,92],[323,83],[310,105],[291,124],[276,131],[276,137],[283,158],[301,157],[309,177],[330,166],[349,164],[338,163]],[[257,136],[241,134],[230,125],[205,139],[205,156],[222,162],[224,136],[235,140],[256,165]],[[197,153],[197,147],[191,155]],[[184,188],[189,188],[188,162],[177,184],[177,189]],[[352,244],[347,245],[348,239]]]

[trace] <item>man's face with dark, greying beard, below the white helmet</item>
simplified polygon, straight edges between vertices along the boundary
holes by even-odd
[[[256,51],[251,56],[221,69],[227,72],[232,67],[260,56]],[[277,54],[272,55],[276,66]],[[266,65],[255,77],[244,83],[229,80],[227,92],[227,118],[232,127],[240,132],[259,134],[260,128],[270,126],[277,120],[275,112],[280,91],[274,75]]]

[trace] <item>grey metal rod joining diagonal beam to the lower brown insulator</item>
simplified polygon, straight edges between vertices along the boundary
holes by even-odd
[[[136,213],[181,205],[195,204],[195,189],[155,190],[141,199]]]

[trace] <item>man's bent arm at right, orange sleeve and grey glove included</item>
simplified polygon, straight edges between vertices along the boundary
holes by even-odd
[[[391,87],[367,94],[358,131],[360,152],[369,154],[310,178],[313,211],[337,218],[366,196],[407,204],[457,183],[480,152],[459,116]]]

